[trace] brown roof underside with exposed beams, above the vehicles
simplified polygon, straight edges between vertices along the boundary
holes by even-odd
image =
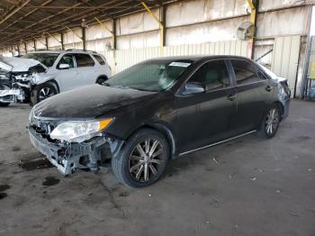
[[[0,1],[0,50],[69,28],[145,11],[175,1],[138,0],[2,0]]]

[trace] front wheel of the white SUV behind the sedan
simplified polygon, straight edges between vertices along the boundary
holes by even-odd
[[[44,94],[44,91],[47,91],[47,94]],[[41,101],[45,100],[46,98],[52,95],[57,95],[57,94],[58,94],[58,88],[52,82],[47,82],[39,86],[35,86],[31,91],[30,104],[31,106],[34,104],[38,104]]]

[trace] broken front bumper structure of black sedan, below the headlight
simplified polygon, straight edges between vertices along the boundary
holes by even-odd
[[[65,176],[75,173],[80,168],[92,171],[104,163],[104,159],[111,159],[120,149],[122,141],[110,137],[99,136],[81,143],[53,143],[46,134],[30,126],[31,144],[49,159]]]

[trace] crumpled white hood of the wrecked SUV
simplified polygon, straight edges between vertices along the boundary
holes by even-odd
[[[36,59],[22,59],[22,58],[9,58],[0,57],[0,69],[5,72],[23,72],[28,71],[29,68],[40,64],[43,68],[46,68],[40,61]]]

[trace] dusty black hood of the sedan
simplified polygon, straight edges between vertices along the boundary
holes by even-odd
[[[154,95],[157,92],[100,85],[83,86],[49,97],[36,104],[31,113],[44,119],[95,119],[122,106],[147,101]]]

